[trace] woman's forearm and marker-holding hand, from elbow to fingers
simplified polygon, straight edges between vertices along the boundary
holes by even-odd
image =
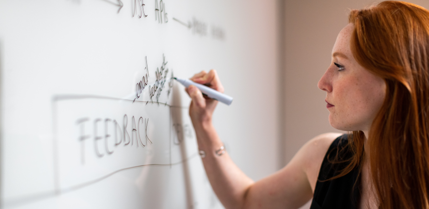
[[[215,70],[208,73],[202,71],[191,80],[223,93]],[[228,152],[221,156],[215,153],[223,145],[211,122],[218,101],[203,97],[202,92],[192,85],[186,91],[192,99],[189,115],[197,136],[198,148],[206,152],[202,161],[210,184],[225,208],[243,208],[247,191],[254,182],[232,162]]]

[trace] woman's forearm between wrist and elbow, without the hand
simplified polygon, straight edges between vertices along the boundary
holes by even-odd
[[[247,177],[228,155],[215,151],[223,146],[211,122],[194,124],[200,150],[206,152],[202,158],[211,186],[227,209],[240,209],[244,205],[246,192],[254,181]]]

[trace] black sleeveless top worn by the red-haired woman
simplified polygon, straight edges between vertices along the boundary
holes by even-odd
[[[323,158],[318,176],[318,182],[314,190],[313,201],[310,209],[357,209],[360,199],[359,169],[354,168],[347,175],[329,180],[339,174],[346,163],[332,164],[337,152],[339,160],[349,159],[351,152],[348,149],[348,135],[342,135],[334,140]],[[355,185],[356,183],[356,185]]]

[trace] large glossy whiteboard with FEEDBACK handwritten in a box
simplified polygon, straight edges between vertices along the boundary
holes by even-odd
[[[190,99],[251,178],[278,169],[276,1],[0,1],[1,208],[219,209]]]

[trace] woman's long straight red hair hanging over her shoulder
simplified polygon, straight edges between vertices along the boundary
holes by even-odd
[[[386,82],[386,97],[367,141],[380,209],[429,209],[429,11],[383,1],[352,10],[354,58]],[[353,132],[353,157],[343,176],[364,159],[364,134]]]

